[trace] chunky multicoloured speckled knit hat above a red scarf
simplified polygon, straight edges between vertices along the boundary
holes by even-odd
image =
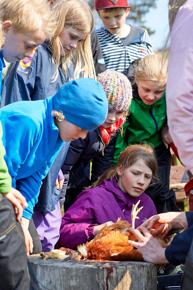
[[[132,100],[132,87],[128,78],[116,70],[107,70],[97,77],[106,93],[109,108],[127,111]]]

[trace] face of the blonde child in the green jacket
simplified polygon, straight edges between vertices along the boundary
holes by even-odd
[[[166,86],[160,86],[157,81],[142,81],[135,77],[135,82],[138,86],[139,97],[146,105],[152,105],[161,99]]]

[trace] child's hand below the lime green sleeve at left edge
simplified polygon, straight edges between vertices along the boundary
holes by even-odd
[[[13,187],[10,192],[2,194],[13,204],[17,220],[20,221],[23,215],[23,209],[28,206],[25,197]]]

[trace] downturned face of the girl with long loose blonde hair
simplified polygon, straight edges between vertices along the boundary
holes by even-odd
[[[75,49],[81,41],[85,40],[87,35],[88,33],[65,26],[59,35],[65,53]]]

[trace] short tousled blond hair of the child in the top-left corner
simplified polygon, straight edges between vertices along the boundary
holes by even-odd
[[[19,33],[43,30],[47,39],[55,30],[52,12],[43,0],[0,0],[0,19],[12,21]]]

